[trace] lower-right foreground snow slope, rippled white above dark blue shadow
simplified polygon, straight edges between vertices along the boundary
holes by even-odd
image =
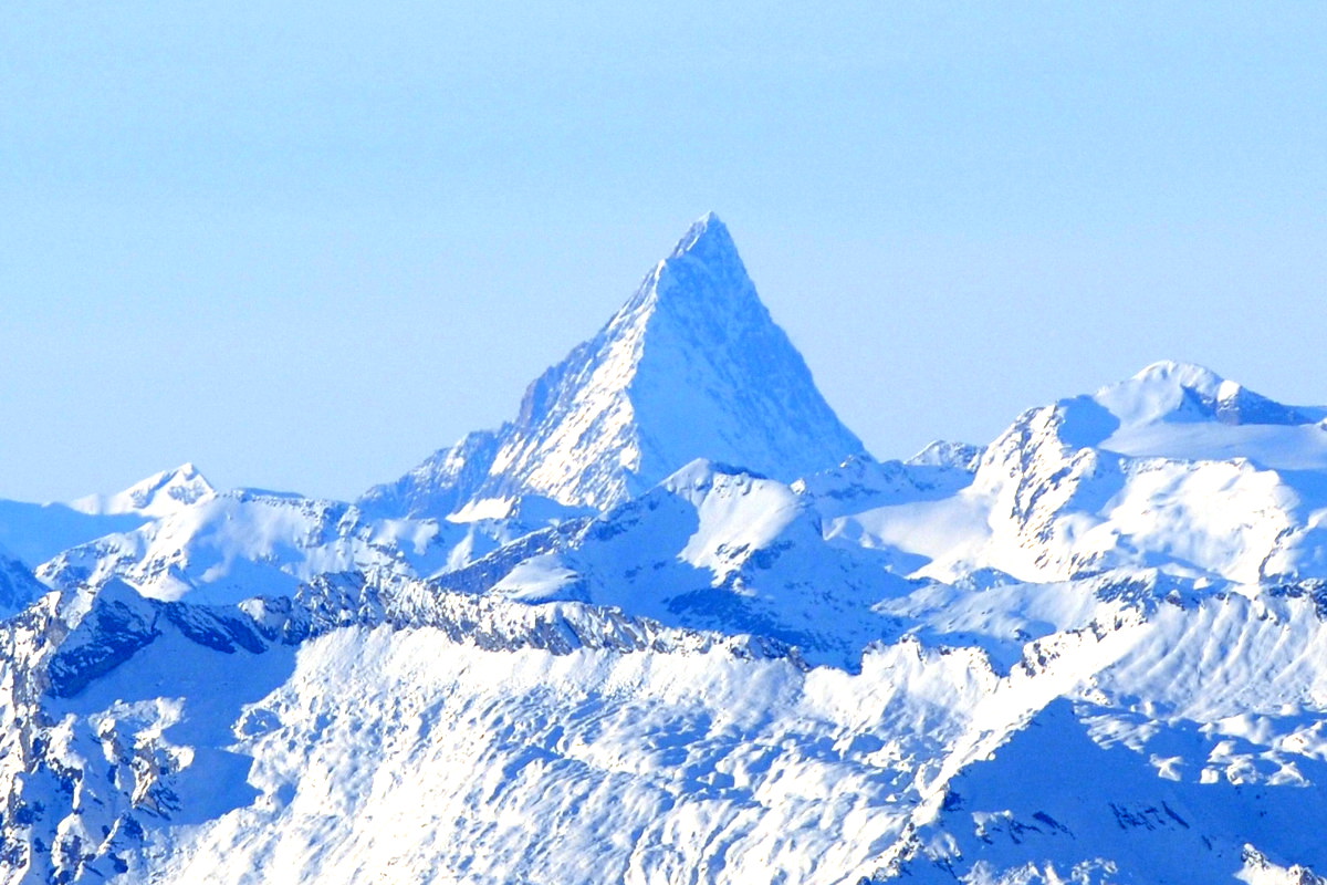
[[[1327,813],[1327,630],[1310,597],[1161,605],[1128,654],[950,780],[896,869],[934,882],[1320,881],[1327,852],[1306,821]]]

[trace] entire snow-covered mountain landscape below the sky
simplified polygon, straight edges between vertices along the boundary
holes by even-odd
[[[0,881],[1327,882],[1327,409],[876,460],[709,215],[356,502],[0,502]]]

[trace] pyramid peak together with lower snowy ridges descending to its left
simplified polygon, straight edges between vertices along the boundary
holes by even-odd
[[[360,503],[219,494],[186,464],[64,508],[127,521],[88,523],[100,531],[65,533],[32,564],[53,586],[118,577],[200,602],[291,593],[328,572],[426,577],[621,504],[702,456],[784,480],[865,456],[713,215],[529,386],[514,423],[470,434]]]

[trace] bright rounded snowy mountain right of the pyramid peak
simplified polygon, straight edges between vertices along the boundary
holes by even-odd
[[[1318,411],[1157,364],[1095,397],[1028,410],[954,495],[836,513],[829,533],[925,557],[914,575],[938,580],[1121,568],[1208,582],[1322,579]]]

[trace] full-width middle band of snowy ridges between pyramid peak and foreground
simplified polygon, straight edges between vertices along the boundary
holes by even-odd
[[[1245,423],[1217,406],[1198,407],[1222,390],[1238,393],[1231,402],[1261,405],[1242,414]],[[130,519],[135,528],[77,544],[35,571],[53,586],[119,579],[157,598],[211,602],[289,594],[321,573],[438,577],[531,602],[612,602],[678,626],[740,624],[836,647],[851,663],[855,649],[889,630],[867,626],[876,618],[864,614],[832,621],[836,636],[828,637],[823,628],[808,630],[824,621],[815,606],[856,598],[849,608],[868,612],[900,580],[1047,581],[1120,569],[1160,569],[1210,586],[1327,577],[1322,472],[1267,466],[1283,463],[1286,451],[1311,459],[1304,441],[1323,446],[1327,430],[1254,422],[1312,411],[1194,366],[1158,364],[1092,397],[1028,410],[987,447],[934,443],[909,462],[853,455],[794,483],[701,459],[597,516],[515,492],[488,517],[472,508],[463,521],[244,490],[204,492],[155,519],[66,510],[85,520]],[[1176,434],[1259,435],[1243,438],[1247,455],[1204,459],[1119,451],[1125,433],[1166,444]],[[162,476],[141,487],[161,488]],[[744,504],[702,507],[695,490],[715,483],[740,490],[734,500]],[[632,528],[642,507],[661,506],[644,523],[649,529]],[[790,523],[802,525],[794,535],[756,528],[779,524],[775,515],[784,511],[802,513],[802,523]],[[638,541],[608,540],[618,535]],[[541,547],[545,536],[565,543]],[[705,537],[729,540],[705,553]],[[648,592],[630,589],[646,576]],[[819,596],[808,596],[812,586]]]

